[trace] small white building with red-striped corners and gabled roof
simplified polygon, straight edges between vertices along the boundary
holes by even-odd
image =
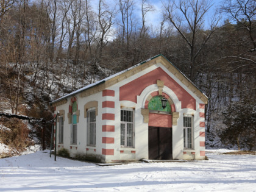
[[[102,163],[204,160],[207,100],[157,55],[53,101],[57,151]]]

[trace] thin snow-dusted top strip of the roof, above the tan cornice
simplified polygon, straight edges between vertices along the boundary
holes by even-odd
[[[80,93],[80,92],[82,92],[82,91],[84,91],[84,90],[87,90],[88,88],[91,88],[91,87],[97,86],[97,85],[99,85],[99,84],[102,84],[102,83],[106,82],[107,80],[112,79],[113,77],[116,77],[116,76],[119,76],[120,74],[126,73],[126,71],[130,71],[130,69],[136,68],[137,66],[140,66],[140,65],[142,65],[142,64],[144,64],[144,63],[146,63],[146,62],[149,62],[150,60],[155,59],[156,57],[160,57],[160,56],[162,56],[162,57],[165,58],[165,56],[163,56],[162,54],[155,55],[154,57],[151,57],[151,58],[149,58],[149,59],[147,59],[147,60],[144,60],[144,62],[138,63],[137,65],[133,65],[133,66],[131,66],[131,67],[128,68],[128,69],[125,69],[125,70],[123,70],[123,71],[120,71],[119,73],[113,74],[112,76],[106,77],[105,79],[99,80],[98,82],[95,82],[95,83],[93,83],[93,84],[90,84],[90,85],[87,85],[87,86],[85,86],[85,87],[82,87],[82,88],[80,88],[79,90],[73,91],[72,93],[66,94],[66,95],[63,96],[62,98],[59,98],[59,99],[56,99],[55,101],[52,101],[51,104],[53,104],[53,103],[55,103],[55,102],[58,102],[58,101],[61,101],[62,99],[66,99],[66,98],[68,98],[69,96],[73,96],[73,95],[75,95],[75,94],[77,94],[77,93]],[[165,59],[166,59],[166,58],[165,58]],[[166,60],[168,60],[168,59],[166,59]],[[171,63],[169,60],[168,60],[168,62]],[[183,74],[175,65],[173,65],[172,63],[171,63],[171,65],[174,66],[184,77],[186,77],[187,80],[189,80],[189,81],[191,82],[191,80],[188,79],[188,77],[185,76],[185,74]],[[193,82],[191,82],[191,84],[193,84]],[[194,85],[194,84],[193,84],[193,85]],[[194,87],[196,87],[196,85],[194,85]],[[197,87],[196,87],[196,88],[197,88]],[[197,90],[199,90],[199,88],[197,88]],[[199,91],[201,91],[201,90],[199,90]],[[202,92],[202,91],[201,91],[201,92]],[[204,93],[202,93],[202,94],[204,94]],[[204,96],[208,99],[208,97],[207,97],[205,94],[204,94]]]

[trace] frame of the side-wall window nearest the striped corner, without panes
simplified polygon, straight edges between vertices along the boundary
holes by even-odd
[[[94,112],[94,121],[91,120],[91,112]],[[91,134],[90,134],[90,126],[93,125],[93,144],[90,143],[91,141]],[[88,108],[87,110],[87,146],[96,146],[96,107]]]

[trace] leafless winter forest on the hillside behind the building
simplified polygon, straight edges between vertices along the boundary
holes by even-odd
[[[166,0],[155,25],[150,1],[96,2],[0,0],[0,112],[49,120],[49,102],[162,54],[208,96],[208,144],[255,149],[254,0],[215,13],[212,1]]]

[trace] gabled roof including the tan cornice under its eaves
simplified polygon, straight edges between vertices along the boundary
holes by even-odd
[[[171,62],[169,62],[169,60],[166,59],[162,54],[151,57],[150,59],[145,60],[144,62],[138,63],[137,65],[134,65],[128,69],[125,69],[124,71],[120,71],[119,73],[113,74],[112,76],[99,80],[94,84],[87,85],[83,88],[80,88],[79,90],[66,94],[62,98],[52,101],[51,104],[53,106],[65,104],[67,102],[68,97],[74,96],[77,93],[80,93],[81,97],[98,93],[99,91],[103,91],[105,90],[105,88],[115,85],[121,80],[127,79],[133,74],[139,73],[140,71],[143,71],[144,69],[156,63],[162,63],[172,74],[174,74],[174,76],[176,76],[184,85],[186,85],[194,94],[196,94],[198,98],[200,98],[202,101],[205,102],[205,104],[207,104],[207,101],[208,101],[207,96],[205,96],[205,94],[202,93],[199,90],[199,88],[197,88],[196,85],[194,85],[193,82],[191,82],[190,79],[188,79],[188,77],[186,77],[178,68],[176,68],[176,66],[174,66]]]

